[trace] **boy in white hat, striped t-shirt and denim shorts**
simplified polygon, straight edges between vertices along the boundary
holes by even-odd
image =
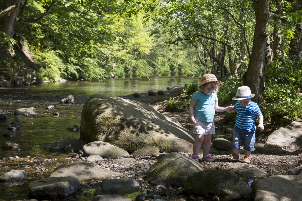
[[[245,150],[244,163],[251,162],[251,154],[254,151],[255,137],[255,117],[258,118],[259,131],[264,130],[263,116],[257,103],[251,99],[255,94],[251,93],[248,86],[240,86],[236,92],[236,97],[233,100],[238,100],[232,108],[233,112],[237,112],[235,127],[233,131],[233,154],[228,158],[230,161],[239,160],[239,148],[243,140],[243,149]]]

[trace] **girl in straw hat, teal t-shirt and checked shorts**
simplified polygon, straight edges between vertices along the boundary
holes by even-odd
[[[214,114],[215,111],[231,111],[232,107],[222,108],[218,106],[218,98],[214,91],[218,91],[220,81],[213,74],[205,74],[201,78],[200,91],[192,96],[189,116],[190,122],[194,124],[195,142],[193,144],[192,159],[198,161],[198,152],[203,142],[203,161],[213,162],[209,155],[211,138],[215,134]],[[195,113],[194,113],[195,109]],[[193,116],[194,114],[194,116]]]

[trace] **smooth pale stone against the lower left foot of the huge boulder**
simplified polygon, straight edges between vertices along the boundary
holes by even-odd
[[[83,146],[84,156],[99,155],[103,158],[130,156],[127,151],[103,141],[95,141]]]

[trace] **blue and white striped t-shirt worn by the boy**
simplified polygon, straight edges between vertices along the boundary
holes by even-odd
[[[239,101],[235,104],[235,110],[237,111],[235,126],[246,130],[256,130],[255,118],[261,115],[261,111],[257,103],[252,102],[246,107],[241,106]]]

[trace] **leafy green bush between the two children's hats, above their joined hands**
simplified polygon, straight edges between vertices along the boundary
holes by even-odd
[[[217,93],[218,100],[221,102],[228,102],[236,96],[239,86],[243,86],[242,78],[230,76],[219,86]]]

